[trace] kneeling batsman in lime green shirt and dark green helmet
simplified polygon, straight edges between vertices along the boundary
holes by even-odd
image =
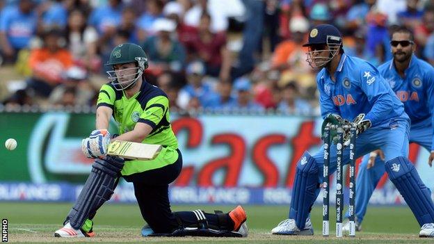
[[[96,158],[77,202],[67,214],[58,237],[90,237],[97,209],[113,195],[120,177],[134,185],[134,194],[147,225],[143,236],[233,236],[248,234],[246,212],[241,206],[230,213],[202,210],[172,212],[168,184],[182,169],[182,155],[170,126],[167,95],[145,81],[145,51],[136,44],[120,44],[111,51],[111,82],[99,90],[96,130],[83,140],[83,153]],[[111,138],[109,120],[118,122],[120,136]],[[163,145],[154,160],[125,161],[106,156],[111,140]]]

